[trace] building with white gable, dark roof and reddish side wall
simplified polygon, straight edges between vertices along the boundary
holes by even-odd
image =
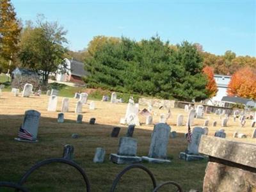
[[[64,59],[64,65],[59,65],[56,73],[56,80],[63,82],[83,83],[82,77],[86,76],[84,63],[76,60]],[[65,71],[65,73],[63,73]]]

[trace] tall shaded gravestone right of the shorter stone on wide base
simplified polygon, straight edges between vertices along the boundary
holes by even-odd
[[[171,127],[167,124],[156,124],[151,137],[148,157],[143,156],[144,161],[150,163],[170,163],[167,159],[167,146]]]

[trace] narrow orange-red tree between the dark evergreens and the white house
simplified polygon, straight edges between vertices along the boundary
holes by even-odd
[[[207,95],[209,95],[209,97],[213,97],[218,92],[217,84],[214,79],[214,68],[205,66],[203,68],[203,72],[207,76],[207,84],[205,87],[207,90]]]

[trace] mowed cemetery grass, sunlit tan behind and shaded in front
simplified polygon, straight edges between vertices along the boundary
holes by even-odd
[[[76,124],[76,99],[70,99],[70,112],[65,113],[65,123],[58,124],[57,116],[60,113],[62,97],[58,97],[56,112],[47,111],[48,99],[46,95],[41,97],[14,97],[10,92],[3,92],[0,99],[0,180],[18,182],[20,177],[35,163],[52,157],[61,157],[65,144],[74,145],[74,161],[79,164],[88,175],[92,191],[109,191],[115,176],[127,165],[118,165],[109,162],[109,154],[116,153],[118,141],[125,136],[127,126],[119,125],[121,117],[125,115],[127,104],[110,104],[109,102],[95,101],[95,110],[89,110],[88,105],[83,108],[83,124]],[[90,100],[88,100],[90,102]],[[24,112],[28,109],[40,111],[40,126],[38,129],[38,143],[22,143],[15,141],[20,124],[24,118]],[[140,106],[143,109],[143,106]],[[159,120],[161,113],[167,110],[154,109],[154,123]],[[155,175],[157,183],[167,180],[178,182],[184,191],[189,189],[202,190],[205,161],[185,162],[179,159],[179,152],[186,149],[188,143],[184,138],[186,126],[176,127],[177,115],[187,114],[183,109],[172,109],[172,118],[168,124],[172,131],[179,132],[177,138],[170,138],[168,144],[168,157],[172,159],[170,164],[143,163]],[[96,124],[88,124],[91,117],[96,118]],[[213,120],[218,120],[217,127],[209,126],[209,136],[220,129],[220,119],[216,115],[206,114],[209,125]],[[140,117],[142,125],[136,127],[134,138],[138,140],[138,156],[147,156],[151,140],[153,125],[145,125],[145,119]],[[202,125],[203,119],[196,119],[195,125]],[[184,122],[185,123],[185,122]],[[228,122],[225,127],[228,139],[232,139],[234,131],[241,131],[248,136],[252,135],[253,128],[248,120],[244,128],[239,128],[239,122]],[[114,126],[120,126],[118,138],[111,138],[110,134]],[[79,138],[72,139],[71,134],[78,133]],[[236,139],[238,141],[256,143],[254,139]],[[102,164],[93,163],[95,148],[106,149],[105,161]],[[81,175],[64,164],[51,164],[34,172],[24,184],[31,191],[86,191]],[[8,191],[0,189],[0,191]],[[152,191],[152,183],[148,175],[142,170],[131,170],[122,177],[116,191]],[[166,186],[161,191],[174,191]]]

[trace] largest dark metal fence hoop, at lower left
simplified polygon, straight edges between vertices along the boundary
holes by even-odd
[[[64,164],[68,164],[68,165],[76,168],[76,170],[78,170],[79,173],[81,173],[81,175],[83,176],[84,182],[86,184],[86,191],[87,192],[91,191],[89,179],[88,179],[86,173],[84,172],[83,168],[81,168],[81,166],[76,164],[74,161],[71,161],[71,160],[68,160],[68,159],[63,159],[63,158],[51,158],[51,159],[46,159],[44,161],[40,161],[39,163],[36,163],[34,166],[32,166],[28,170],[28,172],[26,172],[24,175],[22,175],[22,178],[19,181],[19,185],[22,186],[26,182],[26,180],[28,179],[29,175],[31,175],[31,173],[33,173],[35,170],[37,170],[41,166],[51,164],[51,163],[64,163]]]

